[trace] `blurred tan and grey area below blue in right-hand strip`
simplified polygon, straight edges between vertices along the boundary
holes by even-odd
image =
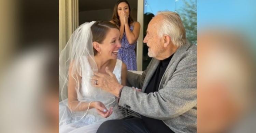
[[[198,133],[256,131],[256,64],[253,45],[239,32],[198,33]]]

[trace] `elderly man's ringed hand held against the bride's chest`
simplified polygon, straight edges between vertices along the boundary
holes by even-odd
[[[116,79],[116,76],[110,72],[108,67],[106,67],[106,73],[107,74],[97,72],[94,73],[91,83],[94,87],[101,88],[118,97],[119,91],[123,86],[119,84],[118,80]]]

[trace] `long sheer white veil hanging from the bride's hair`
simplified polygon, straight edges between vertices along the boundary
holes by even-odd
[[[77,99],[79,97],[83,97],[80,93],[81,82],[79,82],[79,77],[83,77],[83,80],[90,81],[90,75],[93,72],[97,72],[97,65],[94,60],[94,52],[93,52],[93,35],[91,33],[91,26],[95,23],[89,22],[84,23],[79,26],[74,33],[71,35],[67,45],[61,51],[59,57],[59,84],[60,84],[60,96],[61,96],[61,105],[65,107],[65,109],[61,109],[59,107],[59,125],[72,123],[74,121],[79,121],[82,119],[86,113],[80,113],[80,118],[75,118],[73,112],[68,108],[68,83],[69,83],[69,68],[72,63],[71,75],[76,81],[77,87]],[[84,70],[87,69],[87,70]],[[83,75],[83,72],[87,72],[87,75]],[[82,80],[81,80],[82,81]],[[84,84],[87,86],[86,88],[90,88],[91,84],[88,82]],[[81,99],[81,98],[80,98]],[[85,100],[85,99],[82,99]],[[80,100],[80,101],[82,101]],[[89,100],[85,100],[89,101]],[[89,101],[91,102],[91,101]],[[60,106],[61,106],[60,105]],[[79,106],[79,105],[78,105]],[[77,106],[77,108],[79,108]]]

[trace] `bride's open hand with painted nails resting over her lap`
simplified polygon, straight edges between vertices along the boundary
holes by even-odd
[[[93,102],[93,107],[96,109],[96,111],[98,112],[99,115],[101,115],[105,118],[108,118],[113,112],[112,107],[110,108],[110,110],[107,110],[106,107],[104,106],[104,104],[100,101]]]

